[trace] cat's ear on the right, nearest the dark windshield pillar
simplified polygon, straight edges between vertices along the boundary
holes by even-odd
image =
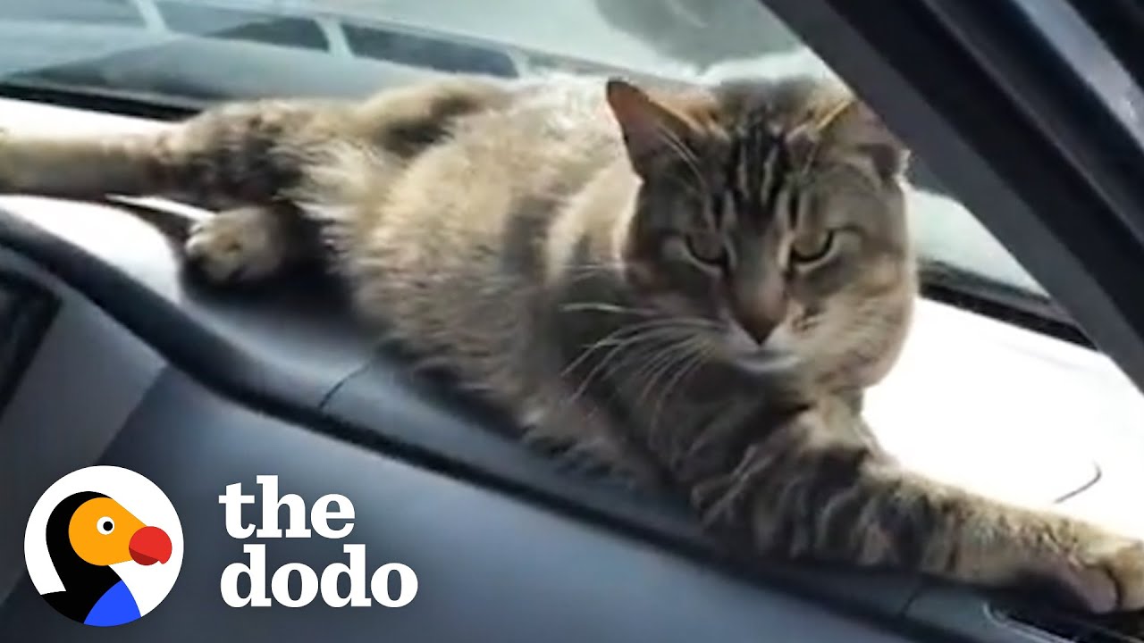
[[[851,100],[833,122],[828,137],[849,153],[857,153],[883,181],[897,178],[909,167],[909,150],[865,103]]]

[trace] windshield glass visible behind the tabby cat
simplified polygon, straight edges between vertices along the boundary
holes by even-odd
[[[363,96],[450,72],[831,73],[757,0],[2,0],[0,38],[8,86],[188,108]],[[923,159],[912,178],[930,279],[1059,315]]]

